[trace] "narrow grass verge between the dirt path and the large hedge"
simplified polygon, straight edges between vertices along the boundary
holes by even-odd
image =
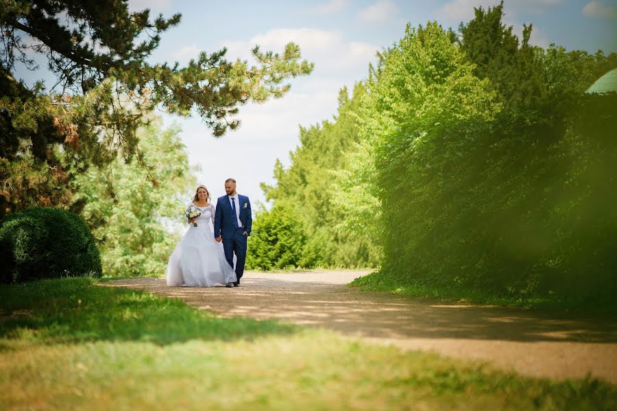
[[[409,297],[428,297],[445,301],[464,301],[495,306],[513,306],[537,310],[576,311],[592,314],[617,314],[617,301],[574,301],[548,297],[496,295],[486,290],[463,290],[424,284],[396,284],[371,273],[354,279],[350,286],[364,291],[391,292]]]

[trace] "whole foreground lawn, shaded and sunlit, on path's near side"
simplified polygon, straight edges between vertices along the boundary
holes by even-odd
[[[602,410],[552,382],[273,321],[219,319],[92,279],[0,286],[0,409]]]

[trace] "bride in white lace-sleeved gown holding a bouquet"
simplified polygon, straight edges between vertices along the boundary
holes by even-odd
[[[210,193],[205,186],[197,187],[193,206],[202,215],[196,219],[185,219],[189,223],[182,240],[171,253],[167,263],[168,286],[232,286],[236,273],[228,264],[223,243],[214,239],[210,223],[214,222],[215,208],[208,203]],[[191,206],[191,204],[189,204]],[[193,223],[197,222],[197,227]]]

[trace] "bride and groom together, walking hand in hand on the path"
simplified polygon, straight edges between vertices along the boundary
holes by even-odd
[[[227,195],[219,197],[215,208],[208,189],[197,187],[189,207],[195,206],[201,214],[186,219],[189,229],[167,263],[168,286],[240,285],[252,227],[251,203],[237,193],[232,178],[226,179],[225,192]]]

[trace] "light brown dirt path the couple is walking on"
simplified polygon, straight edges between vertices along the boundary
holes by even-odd
[[[239,288],[172,288],[154,278],[108,284],[178,297],[221,316],[280,319],[402,349],[484,360],[524,375],[564,379],[591,373],[617,384],[617,319],[443,304],[345,286],[363,274],[245,273]]]

